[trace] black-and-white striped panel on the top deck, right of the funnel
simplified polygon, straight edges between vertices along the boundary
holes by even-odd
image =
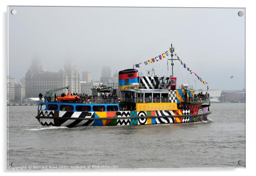
[[[167,82],[167,83],[164,83],[164,82]],[[140,77],[139,79],[139,83],[144,85],[143,88],[146,88],[146,89],[170,88],[171,86],[170,82],[171,82],[170,77]]]

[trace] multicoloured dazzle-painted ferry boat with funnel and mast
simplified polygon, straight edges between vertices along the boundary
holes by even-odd
[[[171,47],[174,51],[174,48]],[[176,54],[175,54],[176,55]],[[171,52],[172,75],[173,53]],[[65,87],[68,88],[68,87]],[[119,71],[118,84],[92,88],[91,99],[71,96],[54,97],[38,103],[37,120],[43,126],[120,126],[193,123],[206,121],[209,96],[196,97],[193,88],[176,85],[176,77],[143,76],[137,69]],[[111,97],[103,98],[102,93]]]

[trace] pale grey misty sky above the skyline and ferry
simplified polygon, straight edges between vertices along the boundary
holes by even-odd
[[[17,10],[11,15],[12,9]],[[9,6],[9,75],[20,79],[40,58],[43,69],[58,71],[72,60],[80,73],[100,80],[102,66],[111,74],[156,57],[171,43],[177,55],[210,89],[245,88],[244,8],[103,8]],[[167,75],[166,58],[138,69],[155,67]],[[169,62],[169,68],[171,62]],[[168,75],[171,74],[171,69]],[[233,75],[234,78],[230,79]],[[206,89],[174,61],[177,84]]]

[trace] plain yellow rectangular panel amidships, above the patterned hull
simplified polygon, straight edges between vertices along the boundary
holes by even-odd
[[[177,103],[137,103],[137,111],[148,110],[178,110]]]

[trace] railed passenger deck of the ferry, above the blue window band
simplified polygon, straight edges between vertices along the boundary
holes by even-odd
[[[162,103],[162,102],[176,102],[176,103],[205,103],[209,102],[209,96],[194,96],[193,91],[177,89],[170,91],[168,89],[162,90],[147,90],[147,89],[116,89],[116,97],[102,97],[91,96],[89,98],[80,98],[72,101],[57,101],[63,103]],[[46,99],[45,102],[51,102],[51,99]]]

